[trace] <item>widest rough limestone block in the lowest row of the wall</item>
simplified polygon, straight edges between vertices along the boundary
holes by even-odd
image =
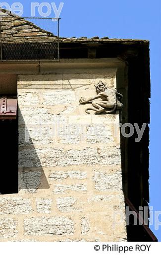
[[[67,217],[39,217],[24,220],[25,235],[72,235],[74,222]]]

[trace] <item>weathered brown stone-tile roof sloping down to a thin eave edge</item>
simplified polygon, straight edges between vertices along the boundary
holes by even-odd
[[[6,10],[2,9],[3,12]],[[20,42],[43,42],[43,41],[57,41],[57,36],[55,36],[52,32],[44,30],[34,23],[20,17],[18,15],[9,13],[7,17],[1,18],[1,39],[2,43],[20,43]],[[109,39],[108,37],[99,38],[98,36],[87,38],[87,37],[71,37],[64,38],[59,37],[60,42],[64,43],[74,43],[74,42],[82,42],[82,43],[106,43],[106,42],[122,42],[124,44],[135,43],[146,43],[146,40],[138,40],[138,39]]]

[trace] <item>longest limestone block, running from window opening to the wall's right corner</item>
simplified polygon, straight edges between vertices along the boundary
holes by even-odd
[[[118,146],[85,147],[83,149],[37,148],[19,151],[20,167],[68,165],[117,165],[121,163]]]

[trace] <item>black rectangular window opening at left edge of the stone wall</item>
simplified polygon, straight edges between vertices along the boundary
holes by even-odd
[[[0,194],[18,193],[18,116],[0,120]]]

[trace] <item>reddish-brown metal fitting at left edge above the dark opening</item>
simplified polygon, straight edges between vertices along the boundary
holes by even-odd
[[[17,99],[1,97],[0,99],[0,120],[12,120],[17,116]]]

